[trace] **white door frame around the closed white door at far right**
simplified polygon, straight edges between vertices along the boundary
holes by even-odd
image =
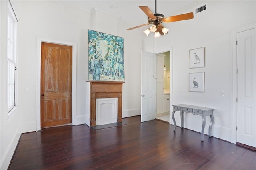
[[[236,97],[237,97],[237,46],[236,46],[236,40],[237,40],[237,33],[243,32],[246,30],[250,30],[256,28],[256,23],[250,24],[247,26],[244,26],[242,28],[238,28],[236,30],[232,31],[232,123],[231,123],[231,143],[236,144],[237,142],[237,103],[236,103]]]

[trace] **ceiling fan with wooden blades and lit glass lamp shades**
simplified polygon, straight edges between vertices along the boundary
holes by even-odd
[[[162,22],[175,22],[175,21],[189,20],[194,18],[193,12],[180,14],[176,16],[164,17],[163,14],[158,14],[158,13],[153,14],[153,12],[148,8],[148,6],[139,6],[139,7],[148,16],[148,23],[142,24],[140,26],[128,28],[126,30],[133,30],[135,28],[140,28],[143,26],[147,26],[149,24],[153,24],[150,28],[144,31],[146,36],[148,36],[150,32],[154,32],[155,37],[160,37],[160,35],[167,34],[169,29],[165,28],[161,24]],[[155,0],[155,10],[156,10],[156,0]]]

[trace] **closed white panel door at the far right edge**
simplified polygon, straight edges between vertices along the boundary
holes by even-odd
[[[256,147],[256,28],[237,34],[237,142]]]

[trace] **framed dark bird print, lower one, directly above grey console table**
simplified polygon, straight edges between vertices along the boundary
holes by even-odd
[[[189,74],[188,91],[204,93],[204,72],[188,73],[188,74]]]

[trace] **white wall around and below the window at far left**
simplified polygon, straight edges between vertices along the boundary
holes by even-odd
[[[6,114],[6,15],[7,2],[0,1],[1,11],[1,55],[0,55],[0,77],[1,77],[1,95],[0,95],[0,169],[8,167],[10,158],[16,148],[16,144],[20,137],[20,114],[19,108],[12,112],[8,117]],[[10,135],[11,134],[11,135]],[[15,143],[15,144],[12,144]],[[10,150],[10,152],[9,152]],[[7,161],[6,161],[7,158]]]

